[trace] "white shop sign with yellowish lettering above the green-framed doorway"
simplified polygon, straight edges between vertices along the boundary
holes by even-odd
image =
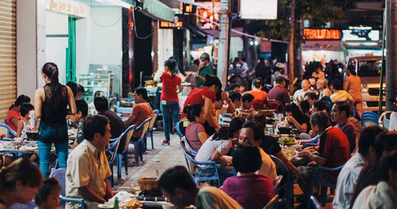
[[[46,0],[46,9],[77,17],[88,16],[88,6],[73,0]]]

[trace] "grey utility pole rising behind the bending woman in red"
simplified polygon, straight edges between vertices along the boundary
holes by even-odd
[[[216,76],[222,83],[222,89],[227,86],[228,51],[229,51],[229,0],[220,1],[219,44]]]

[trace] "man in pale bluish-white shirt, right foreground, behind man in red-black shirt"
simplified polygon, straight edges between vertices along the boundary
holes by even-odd
[[[375,159],[375,139],[384,129],[379,126],[365,128],[358,142],[358,153],[351,157],[342,168],[336,183],[336,194],[332,202],[333,209],[349,209],[358,175],[365,164]]]

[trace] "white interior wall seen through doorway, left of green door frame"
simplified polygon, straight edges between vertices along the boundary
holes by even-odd
[[[68,16],[46,11],[46,35],[68,35]],[[67,37],[46,37],[46,61],[54,62],[59,70],[59,82],[66,84]]]

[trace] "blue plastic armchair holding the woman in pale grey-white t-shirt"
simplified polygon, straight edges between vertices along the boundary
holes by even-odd
[[[194,155],[191,153],[188,149],[186,149],[185,145],[182,143],[182,141],[179,142],[179,147],[183,151],[185,155],[185,160],[186,164],[188,166],[188,170],[190,175],[192,176],[193,180],[195,181],[196,185],[199,185],[199,182],[201,181],[210,181],[210,180],[216,180],[218,188],[220,187],[220,180],[219,180],[219,174],[218,174],[218,168],[216,167],[216,163],[214,161],[207,161],[207,162],[199,162],[194,160]],[[190,163],[190,164],[189,164]],[[191,167],[192,164],[192,167]],[[193,172],[194,171],[194,166],[193,165],[211,165],[214,167],[214,174],[212,176],[196,176],[196,174]]]

